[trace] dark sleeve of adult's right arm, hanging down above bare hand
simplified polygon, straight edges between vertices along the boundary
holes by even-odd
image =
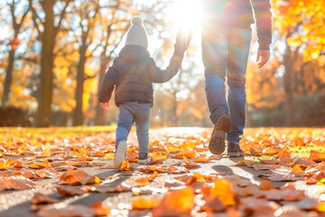
[[[257,38],[260,50],[270,50],[269,46],[272,42],[272,13],[269,0],[252,0]]]

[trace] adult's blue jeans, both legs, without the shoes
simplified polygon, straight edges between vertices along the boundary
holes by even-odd
[[[202,30],[202,59],[210,119],[215,124],[220,115],[230,113],[228,143],[239,144],[245,127],[245,76],[251,37],[251,31],[246,29],[214,27]]]

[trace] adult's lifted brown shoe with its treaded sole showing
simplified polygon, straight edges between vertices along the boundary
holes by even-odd
[[[230,131],[231,119],[228,114],[221,115],[215,124],[210,141],[209,151],[214,155],[221,155],[225,151],[226,133]]]

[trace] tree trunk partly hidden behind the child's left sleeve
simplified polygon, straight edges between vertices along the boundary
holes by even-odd
[[[104,55],[105,55],[105,52],[104,52]],[[107,70],[107,64],[108,64],[108,62],[110,60],[111,60],[111,58],[107,58],[105,56],[101,58],[100,71],[99,71],[99,80],[98,80],[98,94],[99,94],[101,84],[103,83],[103,80],[104,80],[104,77],[105,77],[105,72]],[[105,125],[105,118],[104,117],[105,117],[104,109],[101,108],[100,102],[97,101],[95,125],[104,126]]]

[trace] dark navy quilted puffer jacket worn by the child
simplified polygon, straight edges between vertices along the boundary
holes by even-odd
[[[179,61],[171,60],[167,69],[161,70],[144,47],[126,45],[108,68],[98,99],[108,102],[115,87],[117,107],[125,101],[149,102],[153,105],[153,82],[171,80],[179,67]]]

